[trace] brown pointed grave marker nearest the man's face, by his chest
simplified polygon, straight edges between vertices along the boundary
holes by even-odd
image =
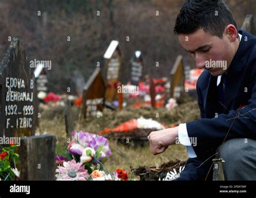
[[[183,66],[183,57],[179,55],[174,63],[170,73],[170,98],[179,98],[180,93],[184,91],[185,74]]]

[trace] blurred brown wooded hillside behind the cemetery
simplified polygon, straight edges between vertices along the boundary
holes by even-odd
[[[144,75],[168,77],[178,54],[184,55],[185,65],[194,66],[192,58],[173,33],[183,2],[1,0],[0,58],[4,57],[10,44],[9,36],[21,38],[30,60],[51,60],[49,90],[65,93],[74,72],[79,72],[86,80],[97,62],[104,65],[103,54],[111,40],[116,39],[123,54],[122,83],[130,80],[129,60],[134,50],[143,53]],[[239,28],[247,13],[256,16],[255,0],[228,0],[226,3]],[[41,16],[38,16],[38,11]],[[97,11],[100,11],[100,16],[96,15]],[[159,16],[156,16],[156,11],[159,11]],[[159,67],[156,67],[156,62],[159,62]]]

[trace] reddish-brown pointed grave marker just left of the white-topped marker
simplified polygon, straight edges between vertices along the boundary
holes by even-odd
[[[83,115],[97,116],[98,111],[103,111],[106,86],[102,73],[96,68],[92,76],[84,86],[83,92]]]

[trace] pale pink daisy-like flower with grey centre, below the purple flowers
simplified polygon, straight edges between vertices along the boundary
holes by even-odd
[[[56,173],[57,180],[86,180],[89,177],[82,163],[76,163],[75,160],[63,162],[63,166],[58,166]]]

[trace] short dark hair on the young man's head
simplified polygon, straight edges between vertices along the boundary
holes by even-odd
[[[222,38],[229,24],[237,29],[237,23],[223,0],[187,0],[177,16],[174,33],[190,34],[203,29]]]

